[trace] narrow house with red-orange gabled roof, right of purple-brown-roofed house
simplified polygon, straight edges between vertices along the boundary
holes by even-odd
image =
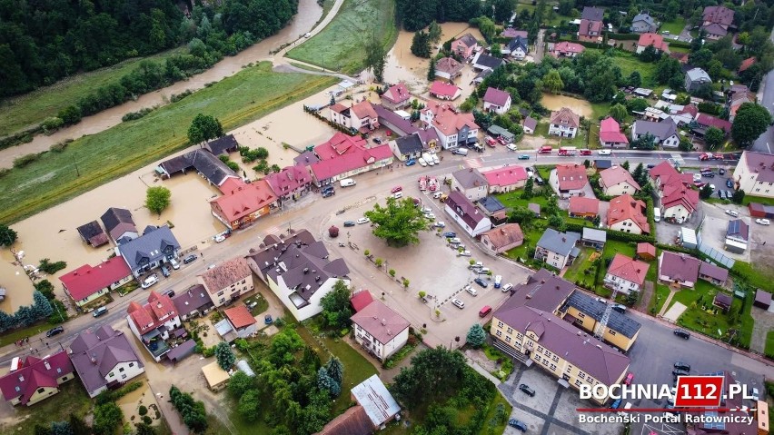
[[[129,329],[137,340],[143,343],[154,361],[161,361],[164,354],[171,349],[166,343],[169,340],[169,332],[182,325],[174,302],[166,294],[151,291],[148,303],[140,305],[134,301],[129,302],[126,312]]]

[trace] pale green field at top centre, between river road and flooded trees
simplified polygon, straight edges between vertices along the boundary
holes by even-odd
[[[365,61],[367,38],[375,37],[389,51],[398,37],[395,2],[344,0],[331,23],[312,39],[293,48],[287,57],[323,68],[355,74]]]

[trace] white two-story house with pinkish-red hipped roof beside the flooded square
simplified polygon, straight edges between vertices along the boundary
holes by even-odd
[[[386,361],[409,340],[409,321],[375,300],[352,315],[355,342],[379,361]]]

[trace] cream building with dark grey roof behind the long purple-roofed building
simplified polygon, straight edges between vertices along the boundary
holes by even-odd
[[[561,317],[584,331],[593,334],[597,330],[608,303],[584,292],[573,292],[564,306],[561,307]],[[607,341],[621,351],[629,351],[640,334],[639,321],[619,311],[610,311],[610,318],[605,330],[602,331],[602,341]]]

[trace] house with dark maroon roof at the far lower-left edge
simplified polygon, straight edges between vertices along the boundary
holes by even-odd
[[[0,378],[0,391],[12,406],[32,406],[58,393],[60,385],[75,378],[73,371],[73,363],[65,351],[42,359],[34,356],[24,360],[15,358],[11,362],[11,371]]]

